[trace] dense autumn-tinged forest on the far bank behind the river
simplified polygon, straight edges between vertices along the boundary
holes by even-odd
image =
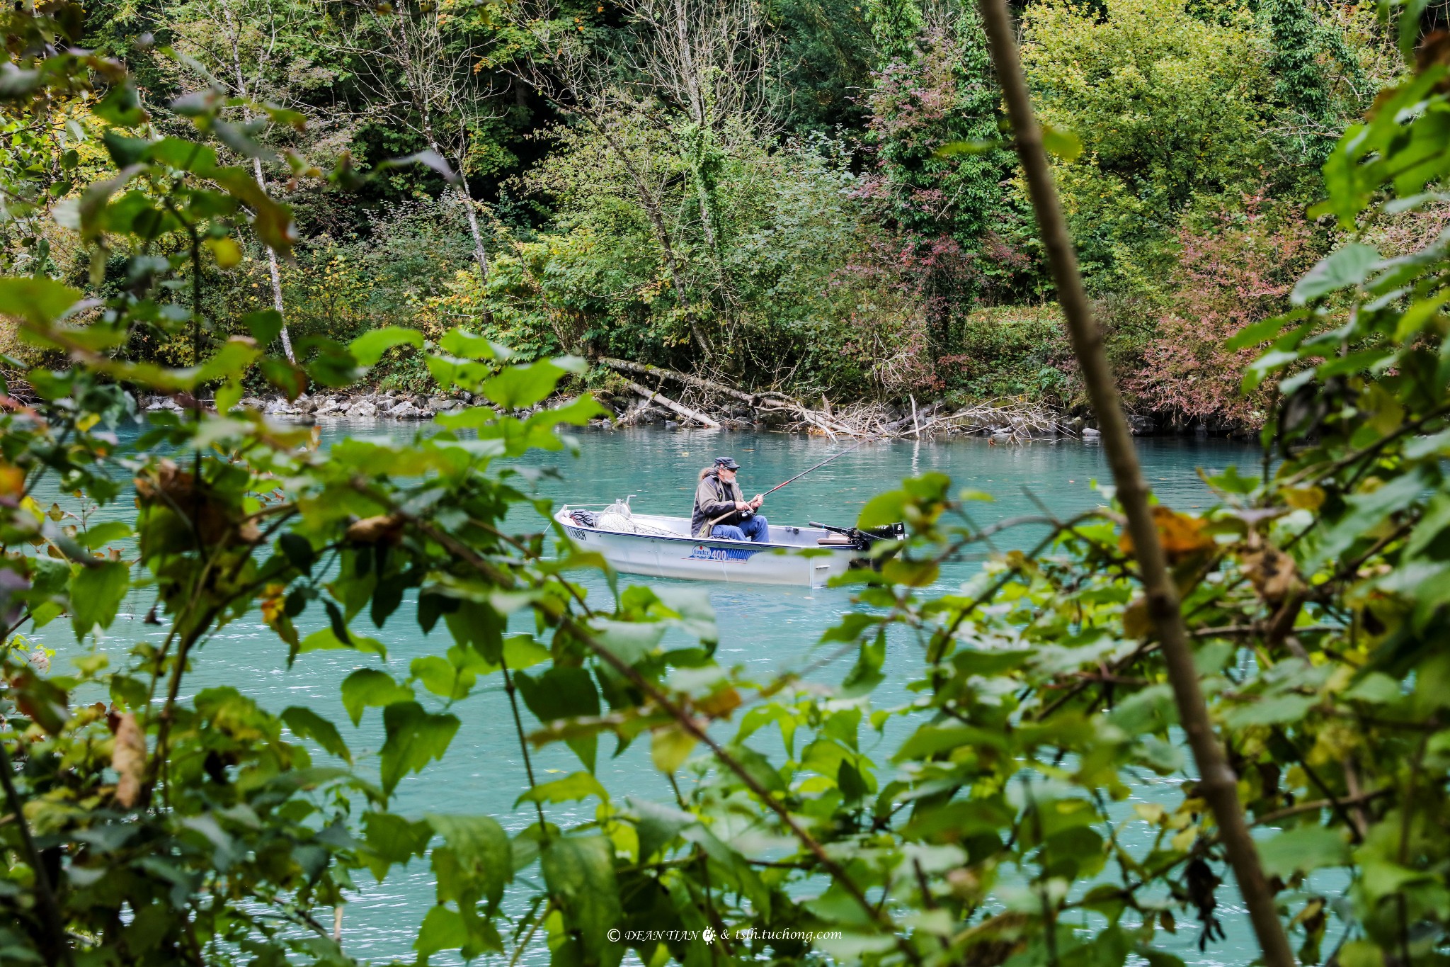
[[[1375,6],[1016,13],[1130,406],[1180,429],[1262,423],[1267,397],[1238,393],[1251,352],[1224,344],[1286,309],[1335,244],[1304,212],[1398,70]],[[609,355],[803,397],[1082,406],[970,4],[106,0],[86,36],[138,78],[157,133],[190,129],[187,96],[216,90],[297,112],[267,130],[242,100],[220,115],[297,238],[281,262],[255,236],[213,246],[218,332],[280,302],[291,338],[464,325],[523,358]],[[116,148],[80,101],[70,115],[0,146],[13,194],[42,200],[0,225],[0,268],[104,296],[126,260],[97,262],[65,225]],[[323,193],[284,148],[378,177]],[[378,171],[419,152],[429,164]],[[1388,216],[1370,236],[1391,257],[1444,220]],[[180,365],[193,346],[141,335],[128,351]],[[406,346],[377,373],[432,384]]]

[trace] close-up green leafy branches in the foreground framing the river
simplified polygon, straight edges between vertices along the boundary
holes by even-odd
[[[39,231],[25,246],[38,271],[0,278],[0,313],[62,360],[28,371],[36,406],[6,397],[0,413],[6,961],[351,963],[326,915],[362,877],[413,857],[436,883],[422,961],[516,960],[538,942],[560,966],[618,964],[626,945],[648,964],[1163,966],[1179,963],[1163,934],[1217,942],[1231,903],[1219,847],[1185,771],[1111,491],[1072,520],[1044,509],[1008,522],[1047,536],[942,589],[944,563],[993,547],[995,529],[973,523],[985,494],[932,474],[903,481],[861,513],[866,526],[906,520],[909,538],[847,581],[860,607],[822,642],[822,661],[856,655],[841,684],[822,693],[722,667],[703,593],[610,576],[600,600],[571,580],[603,568],[596,555],[550,529],[508,532],[510,507],[548,512],[512,458],[563,447],[554,426],[599,410],[586,396],[516,413],[581,360],[510,362],[497,342],[436,323],[426,342],[396,326],[348,342],[300,335],[291,364],[268,352],[281,325],[268,310],[228,333],[210,313],[238,236],[286,254],[294,226],[215,144],[258,152],[296,116],[183,97],[171,110],[191,130],[161,136],[120,65],[58,49],[75,13],[3,13],[7,123],[42,145],[36,132],[70,136],[68,120],[106,128],[104,158],[6,173],[14,231],[54,215],[96,293],[49,277],[55,248]],[[1293,284],[1288,313],[1227,346],[1257,349],[1246,391],[1270,387],[1263,471],[1215,477],[1221,505],[1204,516],[1157,513],[1241,800],[1275,831],[1260,852],[1305,964],[1436,964],[1450,942],[1450,257],[1438,239],[1398,257],[1370,244],[1386,236],[1380,219],[1438,202],[1443,49],[1327,158],[1314,215],[1351,238]],[[262,120],[229,126],[244,104]],[[26,149],[26,138],[9,148]],[[291,154],[278,162],[309,191],[360,186],[348,165],[323,177]],[[22,194],[45,178],[74,181]],[[78,204],[51,204],[72,190]],[[613,231],[645,235],[626,203],[618,210]],[[1253,248],[1286,229],[1246,231]],[[513,252],[519,290],[548,278],[531,262],[544,255]],[[532,304],[500,294],[521,313]],[[570,307],[555,304],[548,325],[563,326],[552,320]],[[142,339],[180,365],[138,352]],[[493,406],[426,438],[326,455],[307,429],[233,409],[249,371],[294,394],[364,378],[399,348]],[[219,412],[194,404],[204,387],[218,387]],[[122,444],[113,428],[136,419],[138,390],[186,410],[149,415]],[[45,509],[42,481],[74,496]],[[88,523],[96,505],[132,496],[135,528]],[[128,621],[128,593],[152,600],[157,634],[110,667],[86,644]],[[278,668],[318,649],[365,663],[342,702],[354,726],[381,718],[376,761],[354,761],[348,725],[312,709],[274,715],[241,689],[187,687],[213,660],[207,639],[252,609]],[[309,612],[325,625],[303,638],[296,619]],[[81,647],[48,673],[33,645],[65,615]],[[406,674],[371,664],[383,647],[368,621],[418,621],[436,648]],[[668,628],[689,644],[661,648]],[[921,664],[916,700],[880,709],[870,696],[887,647],[918,648]],[[515,718],[525,768],[512,781],[534,822],[510,838],[492,816],[393,812],[399,781],[450,754],[448,703],[497,678],[541,723],[526,734]],[[80,702],[94,693],[107,702]],[[655,787],[625,796],[599,781],[610,736],[648,741]],[[580,768],[536,783],[529,750],[550,742]],[[589,799],[593,819],[550,821],[555,805]],[[616,942],[616,928],[683,934]]]

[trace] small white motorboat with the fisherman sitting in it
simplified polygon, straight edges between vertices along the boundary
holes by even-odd
[[[692,538],[687,518],[635,513],[634,520],[671,536],[586,528],[560,509],[554,519],[583,548],[597,551],[616,571],[647,577],[677,577],[734,584],[793,584],[824,587],[837,574],[870,567],[864,551],[854,547],[822,547],[834,536],[821,528],[770,525],[770,542]]]

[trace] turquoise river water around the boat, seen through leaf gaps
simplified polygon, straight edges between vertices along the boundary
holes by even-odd
[[[413,432],[399,423],[339,425],[323,431],[323,444],[342,435],[380,436]],[[1243,444],[1218,439],[1156,439],[1138,441],[1144,471],[1156,491],[1174,507],[1209,506],[1212,502],[1198,473],[1218,471],[1228,464],[1240,464],[1246,471],[1256,465],[1257,451]],[[652,513],[687,515],[695,490],[696,473],[716,455],[732,455],[741,464],[741,483],[747,494],[767,490],[837,452],[840,447],[826,439],[782,433],[719,433],[705,431],[667,432],[658,429],[600,431],[579,436],[579,455],[538,454],[523,464],[554,467],[560,477],[539,478],[538,491],[557,503],[599,505],[616,497],[637,494],[632,506]],[[857,509],[871,496],[899,486],[903,477],[941,471],[957,486],[983,490],[996,497],[982,505],[976,515],[979,525],[1011,516],[1032,513],[1028,491],[1058,515],[1093,507],[1102,503],[1092,481],[1108,481],[1109,471],[1099,445],[1088,441],[1037,441],[1021,447],[990,447],[985,441],[950,442],[883,442],[867,444],[835,462],[809,474],[767,499],[763,512],[773,523],[803,523],[824,520],[850,525]],[[41,493],[42,505],[51,497]],[[107,509],[110,515],[129,512],[129,500]],[[532,513],[532,512],[531,512]],[[518,529],[539,529],[542,520],[516,519]],[[1030,535],[999,539],[999,547],[1021,547]],[[958,565],[944,574],[944,581],[963,580],[972,564]],[[642,578],[625,577],[625,581]],[[603,581],[592,594],[603,596]],[[845,590],[806,590],[751,586],[712,586],[710,600],[718,612],[721,645],[718,657],[724,664],[755,665],[757,677],[768,677],[777,668],[808,661],[819,634],[850,609]],[[130,602],[125,619],[110,629],[102,648],[117,658],[139,636],[152,629],[139,618],[149,600]],[[320,609],[312,609],[320,610]],[[367,634],[381,639],[389,649],[389,667],[394,673],[406,670],[409,660],[447,648],[442,632],[425,638],[418,625],[402,618],[384,629]],[[309,612],[303,616],[316,618]],[[365,618],[360,618],[365,622]],[[313,622],[318,623],[318,622]],[[302,622],[302,634],[312,625]],[[361,625],[360,625],[361,628]],[[67,652],[74,652],[72,639],[65,639],[65,622],[54,622],[42,629],[42,644],[57,648],[57,668],[64,667]],[[274,710],[289,705],[306,705],[328,715],[344,729],[361,770],[376,770],[368,751],[383,741],[377,710],[370,710],[362,725],[348,729],[347,713],[338,699],[338,686],[364,658],[351,652],[326,651],[302,655],[291,670],[286,668],[286,645],[267,631],[260,619],[246,619],[223,629],[197,655],[188,689],[232,686],[255,697]],[[892,706],[903,699],[900,684],[909,676],[914,654],[905,648],[887,660],[887,681],[877,690],[874,702]],[[371,660],[376,661],[376,660]],[[826,668],[822,680],[838,680],[845,667]],[[513,810],[513,800],[525,789],[519,748],[508,713],[508,703],[497,683],[481,681],[480,687],[451,709],[463,719],[447,758],[431,765],[422,776],[412,776],[400,786],[399,808],[405,812],[484,812],[492,813],[508,829],[528,825],[532,812]],[[777,739],[779,741],[779,739]],[[870,738],[864,741],[870,742]],[[638,742],[619,758],[602,754],[599,774],[615,794],[634,794],[668,800],[664,780],[651,767],[647,742]],[[606,742],[602,751],[609,748]],[[761,747],[768,747],[768,739]],[[579,767],[567,750],[550,748],[535,758],[535,768],[574,771]],[[557,777],[557,776],[555,776]],[[593,816],[593,800],[550,808],[551,822],[568,828]],[[432,874],[426,863],[415,860],[402,874],[384,884],[360,880],[358,895],[347,908],[344,947],[355,957],[377,961],[412,960],[412,938],[418,924],[434,902]],[[1224,944],[1211,945],[1201,954],[1193,941],[1196,926],[1180,929],[1182,944],[1174,953],[1189,963],[1248,963],[1253,960],[1243,915],[1231,905],[1228,890],[1222,890],[1219,913],[1230,932]],[[331,922],[331,918],[328,918]],[[522,963],[547,961],[542,945],[531,951]],[[447,963],[445,955],[435,963]]]

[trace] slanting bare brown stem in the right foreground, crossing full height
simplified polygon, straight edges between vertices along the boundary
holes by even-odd
[[[1012,14],[1006,0],[980,0],[982,20],[992,45],[992,64],[1006,100],[1008,116],[1016,141],[1016,152],[1027,175],[1028,193],[1037,226],[1047,248],[1057,284],[1057,299],[1063,306],[1067,332],[1072,336],[1073,354],[1082,367],[1083,384],[1098,415],[1103,449],[1112,467],[1114,483],[1118,487],[1118,502],[1128,519],[1128,534],[1132,538],[1134,557],[1147,596],[1148,616],[1163,649],[1179,721],[1188,734],[1193,760],[1198,764],[1198,790],[1208,800],[1218,822],[1219,841],[1234,867],[1238,890],[1248,908],[1259,948],[1267,967],[1295,967],[1293,953],[1283,924],[1275,910],[1273,893],[1264,881],[1259,864],[1259,851],[1248,825],[1244,822],[1243,803],[1238,802],[1238,781],[1228,767],[1224,750],[1214,734],[1208,718],[1208,705],[1199,689],[1198,671],[1193,668],[1193,654],[1188,645],[1183,613],[1179,606],[1177,589],[1169,576],[1163,545],[1148,506],[1148,487],[1138,467],[1138,455],[1128,432],[1128,420],[1122,415],[1118,389],[1102,346],[1102,331],[1092,319],[1088,296],[1083,291],[1082,275],[1077,271],[1077,257],[1073,252],[1067,223],[1057,200],[1057,188],[1047,167],[1043,149],[1043,135],[1032,116],[1032,104],[1022,77],[1022,62],[1012,32]]]

